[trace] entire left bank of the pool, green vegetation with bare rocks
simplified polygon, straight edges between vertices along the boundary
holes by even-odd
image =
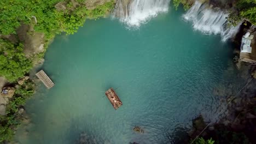
[[[56,34],[73,34],[86,19],[106,16],[114,8],[115,1],[49,1],[43,5],[20,1],[2,5],[19,5],[20,8],[26,5],[26,14],[16,7],[0,8],[2,22],[4,16],[19,15],[5,22],[7,25],[0,26],[0,74],[3,76],[0,77],[0,86],[4,92],[0,96],[0,143],[11,141],[21,121],[29,121],[24,105],[34,93],[34,78],[20,77],[43,64],[44,53]],[[37,10],[29,11],[30,8]]]

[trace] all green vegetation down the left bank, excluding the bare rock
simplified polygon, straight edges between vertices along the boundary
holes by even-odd
[[[25,56],[24,40],[19,39],[17,31],[20,26],[30,26],[32,31],[27,32],[30,35],[43,33],[46,47],[56,34],[73,34],[86,19],[97,19],[113,8],[114,1],[97,5],[94,9],[87,9],[85,0],[0,1],[0,76],[15,83],[31,70],[34,61],[44,57],[44,53]],[[8,39],[10,35],[17,40]],[[7,115],[0,116],[0,143],[13,139],[22,119],[18,111],[33,95],[33,87],[32,81],[16,87],[15,95],[7,105]]]

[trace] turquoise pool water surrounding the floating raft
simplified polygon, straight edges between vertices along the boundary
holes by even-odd
[[[15,139],[75,143],[84,131],[89,143],[174,143],[199,113],[209,121],[220,105],[214,88],[236,76],[225,75],[232,49],[181,17],[170,10],[139,29],[88,20],[78,33],[57,36],[42,67],[56,86],[38,86],[26,105],[31,124]],[[116,111],[104,96],[109,87],[123,101]],[[144,134],[135,133],[135,125]]]

